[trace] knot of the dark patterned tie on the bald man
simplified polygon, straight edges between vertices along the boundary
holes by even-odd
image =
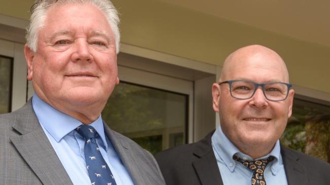
[[[266,168],[267,164],[269,162],[273,161],[275,158],[273,156],[269,156],[267,159],[247,161],[247,160],[241,159],[237,155],[234,155],[233,159],[240,162],[240,163],[242,163],[244,166],[250,168],[252,171],[263,173],[263,171],[265,171],[265,168]]]

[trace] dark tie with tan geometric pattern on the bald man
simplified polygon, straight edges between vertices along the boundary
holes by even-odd
[[[239,161],[247,168],[251,169],[253,174],[251,178],[252,185],[260,184],[260,185],[266,185],[265,176],[263,176],[263,171],[265,171],[266,166],[269,162],[273,161],[275,157],[270,156],[267,159],[261,159],[261,160],[255,160],[255,161],[244,161],[237,155],[233,156],[233,159],[236,161]]]

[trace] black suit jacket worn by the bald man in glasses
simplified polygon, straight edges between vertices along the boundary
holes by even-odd
[[[197,143],[156,154],[168,185],[223,185],[211,145],[213,132]],[[289,185],[330,184],[330,164],[282,146],[281,154]]]

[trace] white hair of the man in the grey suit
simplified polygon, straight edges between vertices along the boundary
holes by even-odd
[[[116,51],[119,53],[120,32],[118,28],[119,17],[116,8],[110,0],[36,0],[31,7],[30,24],[26,28],[27,46],[37,52],[38,31],[44,26],[47,10],[54,4],[85,3],[88,2],[100,9],[106,16],[116,41]]]

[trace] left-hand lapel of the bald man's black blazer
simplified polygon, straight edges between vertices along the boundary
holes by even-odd
[[[195,149],[193,155],[198,159],[192,162],[201,183],[204,185],[223,185],[219,167],[215,159],[210,133],[206,138],[200,141],[200,145]]]

